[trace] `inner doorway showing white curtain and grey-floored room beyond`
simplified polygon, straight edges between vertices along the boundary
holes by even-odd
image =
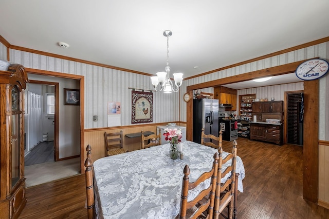
[[[25,165],[58,161],[58,87],[59,83],[45,81],[30,80],[27,84]]]

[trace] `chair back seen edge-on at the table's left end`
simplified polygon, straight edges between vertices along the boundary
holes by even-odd
[[[94,167],[92,160],[92,147],[90,145],[87,146],[87,158],[84,162],[84,166],[86,167],[85,177],[86,177],[86,192],[87,192],[87,213],[88,219],[96,218],[95,211],[95,195],[94,195]]]

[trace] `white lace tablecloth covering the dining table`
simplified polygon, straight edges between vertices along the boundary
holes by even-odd
[[[190,182],[194,182],[200,174],[211,170],[213,155],[217,150],[185,141],[184,160],[171,160],[169,150],[170,145],[166,144],[95,161],[97,217],[174,218],[179,212],[185,165],[189,165]],[[223,157],[226,155],[224,152]],[[236,172],[240,173],[237,188],[243,192],[245,169],[239,156],[236,159]],[[209,185],[209,181],[207,183]],[[190,196],[195,195],[191,192]]]

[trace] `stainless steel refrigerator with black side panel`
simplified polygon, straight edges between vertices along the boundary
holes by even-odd
[[[202,128],[218,137],[218,107],[218,99],[193,99],[193,142],[201,143]]]

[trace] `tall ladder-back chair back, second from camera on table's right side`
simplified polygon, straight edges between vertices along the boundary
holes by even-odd
[[[218,218],[219,215],[227,206],[228,206],[227,218],[232,218],[233,216],[234,192],[235,192],[235,186],[237,186],[235,184],[235,179],[236,179],[235,167],[236,167],[236,153],[237,153],[236,145],[237,143],[234,140],[232,153],[229,153],[225,158],[223,158],[223,148],[221,143],[220,143],[220,148],[218,148],[218,153],[220,158],[218,160],[214,218]],[[226,163],[230,165],[227,166],[225,165]],[[224,166],[227,167],[224,169]],[[230,173],[229,178],[224,183],[221,183],[222,178],[224,178],[228,173]]]

